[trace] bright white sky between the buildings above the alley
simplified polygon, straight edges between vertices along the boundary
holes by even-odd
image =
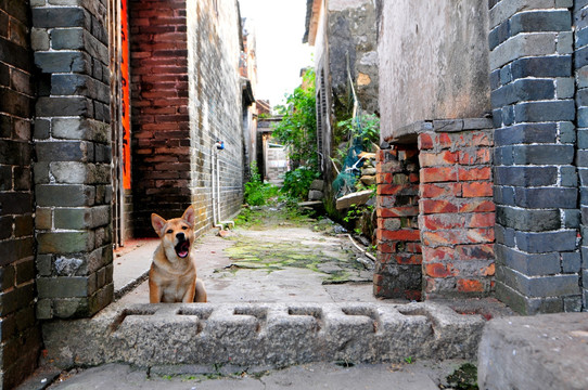
[[[239,0],[241,16],[254,22],[257,37],[255,99],[285,103],[301,84],[301,69],[312,65],[312,48],[303,44],[306,0]]]

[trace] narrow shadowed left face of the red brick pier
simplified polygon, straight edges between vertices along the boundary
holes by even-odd
[[[419,158],[416,145],[378,153],[378,261],[373,292],[382,298],[421,299]]]

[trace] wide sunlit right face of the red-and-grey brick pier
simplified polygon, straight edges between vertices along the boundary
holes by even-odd
[[[425,298],[482,297],[494,288],[495,205],[489,119],[435,120],[419,134]]]

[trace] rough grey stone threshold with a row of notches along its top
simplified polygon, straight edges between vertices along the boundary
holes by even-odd
[[[472,359],[485,321],[434,303],[136,304],[43,325],[67,368],[126,362],[281,367],[320,361]]]

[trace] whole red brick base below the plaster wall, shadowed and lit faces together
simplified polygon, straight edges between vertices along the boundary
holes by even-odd
[[[491,122],[420,128],[418,144],[378,155],[374,295],[487,296],[495,273]]]

